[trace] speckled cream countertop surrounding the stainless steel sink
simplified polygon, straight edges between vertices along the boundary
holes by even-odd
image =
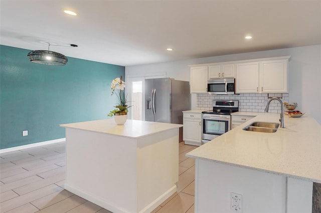
[[[255,113],[254,118],[186,156],[321,183],[321,125],[310,115],[285,114],[285,128],[274,133],[243,130],[253,121],[279,123],[279,113]]]

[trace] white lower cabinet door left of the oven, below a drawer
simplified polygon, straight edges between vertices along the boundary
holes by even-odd
[[[184,119],[183,140],[201,144],[201,120]]]

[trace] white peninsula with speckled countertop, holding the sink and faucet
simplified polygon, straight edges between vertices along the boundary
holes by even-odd
[[[312,183],[321,182],[321,126],[304,114],[285,115],[285,128],[274,133],[243,130],[254,121],[279,123],[279,113],[255,115],[187,153],[196,158],[195,212],[235,212],[231,192],[242,195],[243,212],[311,212]]]

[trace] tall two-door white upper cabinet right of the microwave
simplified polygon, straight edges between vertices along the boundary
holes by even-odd
[[[288,92],[288,58],[237,63],[236,93]]]

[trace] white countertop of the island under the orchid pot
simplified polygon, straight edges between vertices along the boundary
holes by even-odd
[[[127,121],[123,125],[117,125],[114,119],[111,118],[60,124],[59,126],[119,135],[124,137],[139,138],[169,129],[179,128],[183,125],[131,119],[127,119]]]

